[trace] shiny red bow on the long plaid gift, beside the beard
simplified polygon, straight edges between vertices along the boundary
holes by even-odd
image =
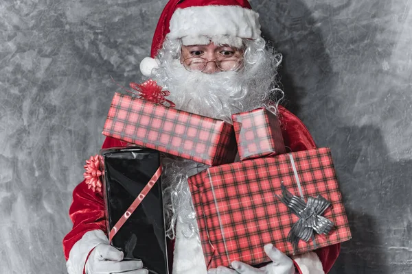
[[[170,95],[169,90],[163,90],[161,86],[157,84],[156,81],[149,79],[148,81],[144,82],[143,84],[139,85],[135,82],[130,83],[130,88],[133,88],[137,92],[139,92],[139,96],[142,99],[150,101],[152,103],[169,103],[170,108],[174,108],[175,104],[165,99],[166,96]]]

